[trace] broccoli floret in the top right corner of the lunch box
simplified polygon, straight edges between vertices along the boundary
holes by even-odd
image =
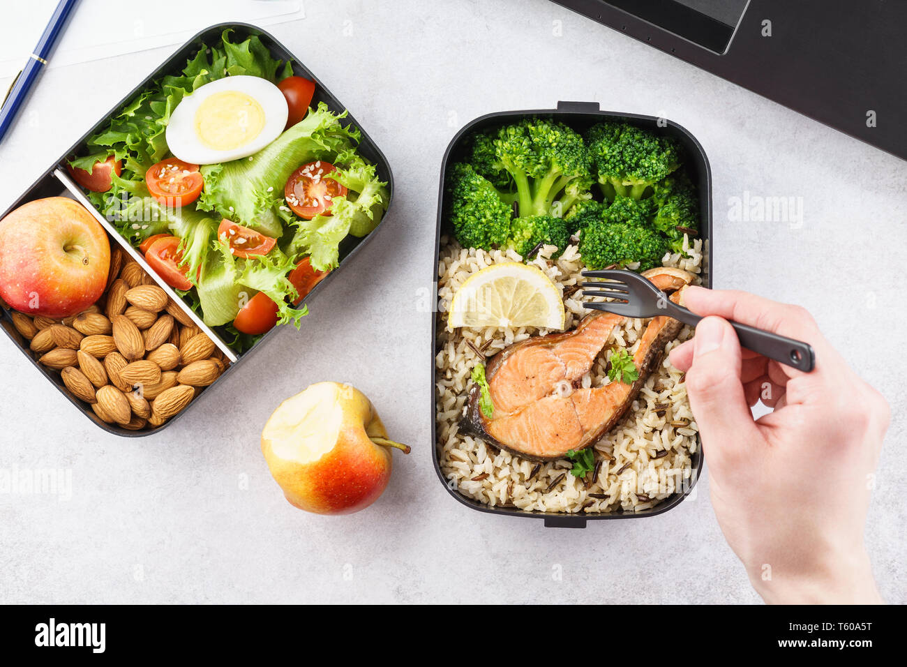
[[[586,133],[592,165],[607,199],[640,199],[680,164],[678,143],[629,123],[607,121]]]

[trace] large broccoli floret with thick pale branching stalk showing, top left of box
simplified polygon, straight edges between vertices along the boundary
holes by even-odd
[[[593,181],[589,152],[580,134],[567,125],[528,118],[503,126],[493,143],[494,165],[510,174],[522,217],[560,218],[587,197]],[[487,155],[487,150],[480,154]]]

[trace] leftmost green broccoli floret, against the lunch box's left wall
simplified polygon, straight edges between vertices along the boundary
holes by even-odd
[[[502,201],[491,182],[463,162],[447,176],[447,220],[464,248],[492,250],[510,234],[512,208]]]

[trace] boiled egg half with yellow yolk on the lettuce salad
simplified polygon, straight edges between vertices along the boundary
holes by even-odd
[[[239,160],[277,139],[287,114],[287,100],[273,83],[258,76],[226,76],[177,104],[167,125],[167,146],[191,164]]]

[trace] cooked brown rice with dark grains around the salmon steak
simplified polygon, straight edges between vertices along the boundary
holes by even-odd
[[[658,372],[649,376],[627,417],[594,445],[601,465],[598,476],[589,480],[588,486],[583,478],[564,475],[571,468],[570,461],[540,465],[499,451],[479,438],[463,436],[459,432],[459,420],[465,408],[470,373],[476,363],[484,361],[476,350],[491,357],[514,342],[549,331],[447,329],[447,308],[464,280],[491,264],[522,258],[512,250],[464,249],[456,240],[447,238],[442,238],[441,247],[435,356],[436,446],[441,469],[451,485],[463,495],[491,506],[514,506],[538,512],[599,513],[649,509],[690,484],[690,456],[697,449],[697,425],[689,409],[682,374],[670,365],[667,355]],[[555,250],[553,246],[543,247],[531,264],[544,271],[560,289],[567,313],[566,328],[570,329],[588,312],[576,291],[584,267],[576,246],[569,246],[561,257],[550,260]],[[685,238],[684,250],[688,257],[668,254],[663,264],[699,274],[702,241]],[[627,320],[613,331],[605,349],[624,347],[632,353],[646,321]],[[693,329],[685,326],[678,338],[668,343],[667,350],[692,335]],[[602,354],[590,373],[582,378],[582,386],[600,387],[608,382]]]

